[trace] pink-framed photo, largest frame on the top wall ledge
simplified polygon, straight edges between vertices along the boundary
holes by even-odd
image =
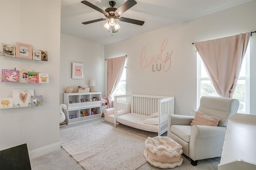
[[[32,60],[32,45],[16,42],[16,57]]]

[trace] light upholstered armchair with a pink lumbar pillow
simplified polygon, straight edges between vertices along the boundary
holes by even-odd
[[[202,96],[195,116],[168,115],[167,136],[182,145],[193,166],[198,160],[220,157],[228,116],[238,106],[237,99]]]

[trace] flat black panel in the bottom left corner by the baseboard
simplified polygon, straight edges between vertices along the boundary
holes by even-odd
[[[1,150],[0,170],[31,170],[27,144]]]

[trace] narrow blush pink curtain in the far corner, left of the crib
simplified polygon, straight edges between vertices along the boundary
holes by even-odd
[[[114,92],[121,79],[124,70],[125,59],[126,56],[107,59],[108,108],[112,107],[111,94]]]

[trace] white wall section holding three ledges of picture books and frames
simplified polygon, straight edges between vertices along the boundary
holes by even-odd
[[[48,62],[0,57],[0,69],[49,73],[49,84],[1,83],[0,98],[12,89],[34,89],[44,106],[0,110],[0,150],[27,143],[30,158],[60,149],[60,0],[1,0],[0,42],[48,51]]]

